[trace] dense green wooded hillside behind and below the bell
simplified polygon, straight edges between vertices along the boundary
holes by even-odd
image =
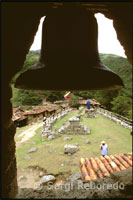
[[[12,87],[16,78],[20,73],[35,66],[39,58],[39,52],[29,52],[25,60],[23,69],[16,74],[12,79]],[[104,105],[108,110],[121,114],[125,117],[132,117],[132,66],[127,59],[111,55],[100,54],[102,62],[118,74],[123,82],[124,88],[120,90],[108,91],[75,91],[70,98],[70,104],[74,107],[79,106],[78,96],[84,99],[95,98],[98,102]],[[13,87],[13,106],[18,105],[37,105],[41,104],[41,99],[44,96],[47,101],[54,102],[56,100],[64,99],[65,91],[31,91],[31,90],[19,90]]]

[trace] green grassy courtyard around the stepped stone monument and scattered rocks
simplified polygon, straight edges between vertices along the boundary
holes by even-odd
[[[56,121],[52,129],[59,129],[62,122],[79,111],[71,111],[62,119]],[[109,155],[128,153],[132,151],[132,139],[130,130],[126,129],[109,119],[97,115],[96,118],[82,117],[82,124],[88,126],[91,130],[90,135],[62,135],[59,138],[50,141],[41,140],[42,127],[36,130],[36,135],[25,143],[16,148],[17,167],[27,168],[28,166],[40,166],[47,170],[48,173],[58,173],[63,170],[71,170],[71,172],[79,171],[78,161],[81,157],[98,157],[100,156],[99,145],[102,140],[108,144]],[[25,127],[26,128],[26,127]],[[22,128],[22,131],[25,130]],[[21,128],[17,129],[16,135],[21,133]],[[63,141],[66,136],[72,137],[70,141]],[[15,138],[17,140],[17,138]],[[89,140],[90,144],[86,144]],[[35,143],[33,143],[35,142]],[[65,144],[79,144],[79,151],[73,155],[63,154]],[[36,147],[37,151],[28,153],[28,150]],[[53,152],[49,152],[53,150]],[[24,156],[29,155],[31,158],[26,160]]]

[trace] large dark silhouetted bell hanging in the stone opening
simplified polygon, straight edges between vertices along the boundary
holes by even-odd
[[[98,53],[98,28],[85,9],[57,8],[43,23],[40,58],[22,73],[15,87],[35,90],[120,89],[121,78],[106,67]]]

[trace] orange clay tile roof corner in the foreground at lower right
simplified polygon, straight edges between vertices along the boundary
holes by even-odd
[[[99,158],[81,158],[79,160],[81,177],[85,181],[110,176],[113,171],[132,167],[132,153],[100,156]]]

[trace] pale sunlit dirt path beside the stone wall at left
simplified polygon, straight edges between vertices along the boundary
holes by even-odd
[[[18,138],[22,137],[22,139],[21,141],[16,142],[16,146],[19,146],[23,142],[26,142],[31,137],[33,137],[36,134],[36,130],[41,126],[43,126],[43,122],[38,122],[36,124],[30,125],[30,127],[27,128],[27,130],[23,131],[18,135]]]

